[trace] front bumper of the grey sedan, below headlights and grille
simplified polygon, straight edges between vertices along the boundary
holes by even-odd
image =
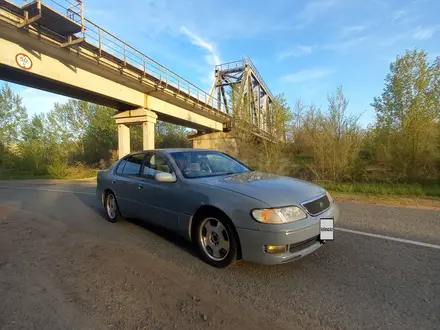
[[[305,257],[322,247],[323,241],[319,239],[319,220],[333,218],[336,223],[339,219],[339,208],[336,203],[316,217],[283,224],[265,225],[260,230],[237,228],[240,238],[243,260],[265,265],[292,262]],[[265,245],[288,245],[287,252],[269,254]]]

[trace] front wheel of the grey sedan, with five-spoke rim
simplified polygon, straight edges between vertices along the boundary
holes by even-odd
[[[201,259],[217,268],[229,267],[237,260],[238,240],[228,220],[218,214],[204,215],[195,228]]]

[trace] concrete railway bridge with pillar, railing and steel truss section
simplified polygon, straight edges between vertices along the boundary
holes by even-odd
[[[194,146],[207,147],[210,134],[231,128],[225,87],[237,84],[255,134],[271,136],[273,96],[250,59],[217,67],[208,94],[85,19],[82,2],[71,1],[0,0],[0,79],[117,109],[120,157],[130,152],[129,125],[142,124],[143,147],[154,148],[157,119],[196,129]]]

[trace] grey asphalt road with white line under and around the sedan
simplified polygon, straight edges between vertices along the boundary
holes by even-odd
[[[270,306],[274,320],[300,320],[292,328],[440,329],[438,211],[341,203],[335,241],[315,254],[279,266],[218,270],[162,229],[107,222],[93,184],[0,182],[1,205],[149,251],[255,313]]]

